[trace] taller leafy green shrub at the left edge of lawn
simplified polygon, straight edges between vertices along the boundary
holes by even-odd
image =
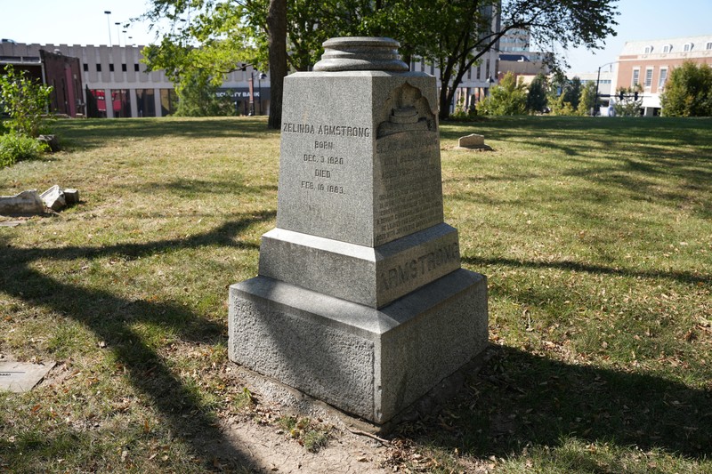
[[[11,65],[5,66],[4,76],[0,76],[0,99],[10,115],[7,127],[28,137],[39,135],[52,90],[52,86],[38,84],[25,71],[17,73]]]

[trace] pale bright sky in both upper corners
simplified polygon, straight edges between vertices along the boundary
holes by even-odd
[[[557,51],[568,59],[570,72],[595,72],[615,61],[627,41],[712,34],[712,0],[619,0],[616,4],[618,36],[606,38],[602,50]],[[155,31],[149,24],[136,22],[123,28],[147,5],[147,0],[0,0],[0,37],[18,43],[109,44],[110,35],[111,44],[150,44]]]

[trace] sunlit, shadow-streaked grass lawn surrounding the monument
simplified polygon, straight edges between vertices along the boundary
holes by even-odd
[[[204,441],[250,405],[227,372],[227,286],[255,276],[274,227],[279,133],[261,117],[55,129],[65,151],[0,169],[0,195],[82,199],[0,227],[0,355],[59,366],[0,393],[0,471],[217,469]],[[469,133],[494,151],[454,149]],[[712,120],[498,118],[441,125],[441,148],[491,348],[393,435],[419,462],[390,462],[712,473]]]

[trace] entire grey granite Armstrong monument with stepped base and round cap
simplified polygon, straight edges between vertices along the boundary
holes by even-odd
[[[487,280],[443,221],[435,78],[332,38],[285,78],[277,229],[230,288],[229,356],[383,425],[481,353]]]

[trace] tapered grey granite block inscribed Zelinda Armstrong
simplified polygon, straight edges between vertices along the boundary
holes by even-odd
[[[287,76],[277,227],[376,246],[441,223],[434,84],[419,72]]]

